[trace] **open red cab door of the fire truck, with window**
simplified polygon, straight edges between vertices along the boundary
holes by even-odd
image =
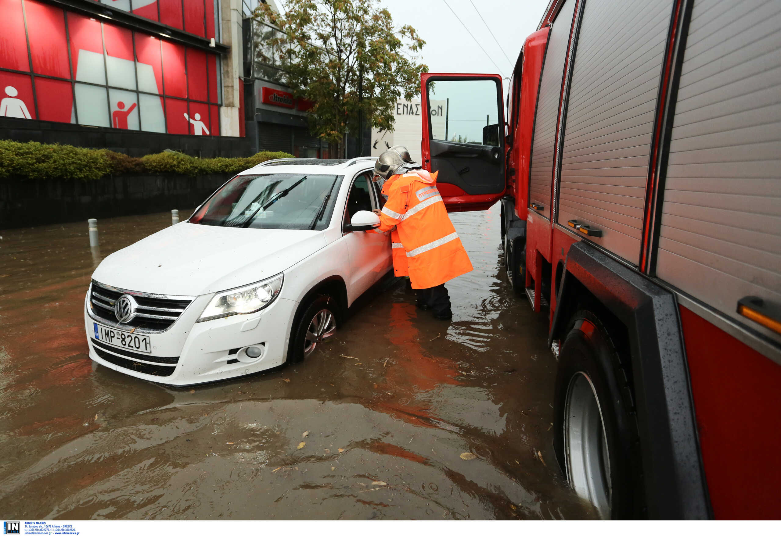
[[[448,211],[486,210],[505,194],[501,75],[423,73],[423,167]]]

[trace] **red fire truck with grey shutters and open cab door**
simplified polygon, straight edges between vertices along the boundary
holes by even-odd
[[[779,28],[776,1],[551,0],[506,101],[422,76],[424,166],[450,211],[501,201],[558,463],[604,517],[781,516]]]

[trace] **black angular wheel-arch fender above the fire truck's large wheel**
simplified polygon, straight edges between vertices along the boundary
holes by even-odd
[[[675,294],[587,243],[575,243],[558,288],[549,346],[564,339],[583,289],[626,325],[648,516],[712,519]]]

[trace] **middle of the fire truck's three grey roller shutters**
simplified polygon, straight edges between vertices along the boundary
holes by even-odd
[[[648,159],[672,0],[589,0],[564,126],[558,223],[632,264],[640,257]]]

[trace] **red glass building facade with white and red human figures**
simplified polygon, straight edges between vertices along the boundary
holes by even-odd
[[[219,41],[216,0],[101,3],[162,31],[135,28],[134,17],[118,24],[109,9],[91,14],[57,2],[0,0],[0,116],[219,136],[219,55],[166,38],[171,27]]]

